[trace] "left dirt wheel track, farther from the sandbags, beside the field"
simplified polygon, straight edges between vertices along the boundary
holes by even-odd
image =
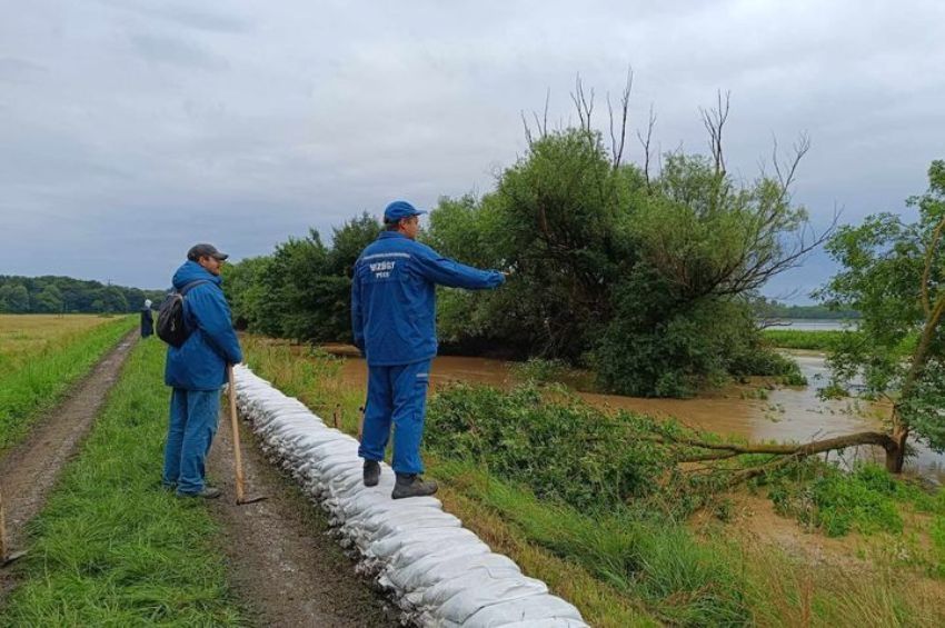
[[[0,486],[11,549],[23,547],[26,522],[42,508],[59,470],[89,431],[137,336],[137,329],[128,332],[89,375],[74,385],[61,405],[33,427],[26,441],[0,458]],[[10,571],[0,570],[0,601],[12,586]]]

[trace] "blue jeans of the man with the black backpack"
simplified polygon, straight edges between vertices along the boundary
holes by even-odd
[[[183,495],[203,490],[207,453],[219,415],[219,390],[172,390],[161,478],[165,486],[177,485],[177,492]]]

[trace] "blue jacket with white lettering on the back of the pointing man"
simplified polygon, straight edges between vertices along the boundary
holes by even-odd
[[[436,285],[479,290],[505,276],[441,257],[397,231],[384,231],[355,263],[351,327],[368,366],[409,365],[437,353]]]

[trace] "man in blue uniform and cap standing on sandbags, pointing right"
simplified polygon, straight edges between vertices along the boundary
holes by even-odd
[[[394,499],[437,491],[435,481],[420,478],[427,386],[437,353],[436,285],[480,290],[505,281],[497,270],[464,266],[417,242],[421,213],[406,201],[387,206],[386,230],[358,258],[351,285],[355,345],[368,362],[358,456],[365,459],[365,485],[376,486],[394,423]]]

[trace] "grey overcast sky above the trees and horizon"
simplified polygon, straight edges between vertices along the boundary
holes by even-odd
[[[520,111],[635,71],[664,150],[730,90],[745,179],[806,131],[823,227],[905,211],[945,158],[945,2],[0,0],[0,275],[159,288],[186,250],[271,252],[395,198],[489,191]],[[606,108],[598,103],[598,122]],[[640,150],[630,147],[629,157]],[[804,301],[823,255],[766,292]]]

